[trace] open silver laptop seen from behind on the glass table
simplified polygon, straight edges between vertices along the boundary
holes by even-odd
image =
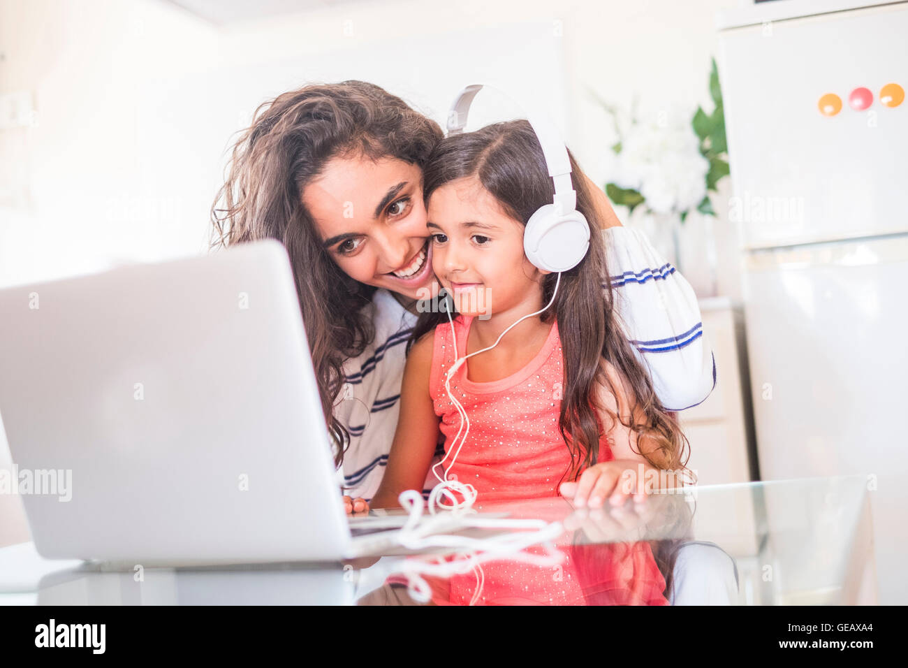
[[[336,561],[382,546],[351,538],[278,242],[7,288],[0,314],[0,415],[44,557]]]

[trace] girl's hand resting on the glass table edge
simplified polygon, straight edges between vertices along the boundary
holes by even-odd
[[[613,506],[623,505],[631,496],[642,503],[656,486],[654,476],[642,476],[643,468],[652,468],[635,460],[615,460],[590,466],[576,483],[562,483],[559,491],[576,508],[600,508],[606,499]],[[627,472],[627,473],[626,473]]]

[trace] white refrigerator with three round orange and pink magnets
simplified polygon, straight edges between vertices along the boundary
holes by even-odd
[[[878,600],[908,603],[908,2],[717,28],[760,476],[868,476]]]

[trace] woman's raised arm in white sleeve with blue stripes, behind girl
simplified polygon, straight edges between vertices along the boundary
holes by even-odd
[[[701,404],[716,387],[716,358],[694,289],[639,230],[624,227],[607,194],[584,174],[606,244],[617,314],[669,411]]]

